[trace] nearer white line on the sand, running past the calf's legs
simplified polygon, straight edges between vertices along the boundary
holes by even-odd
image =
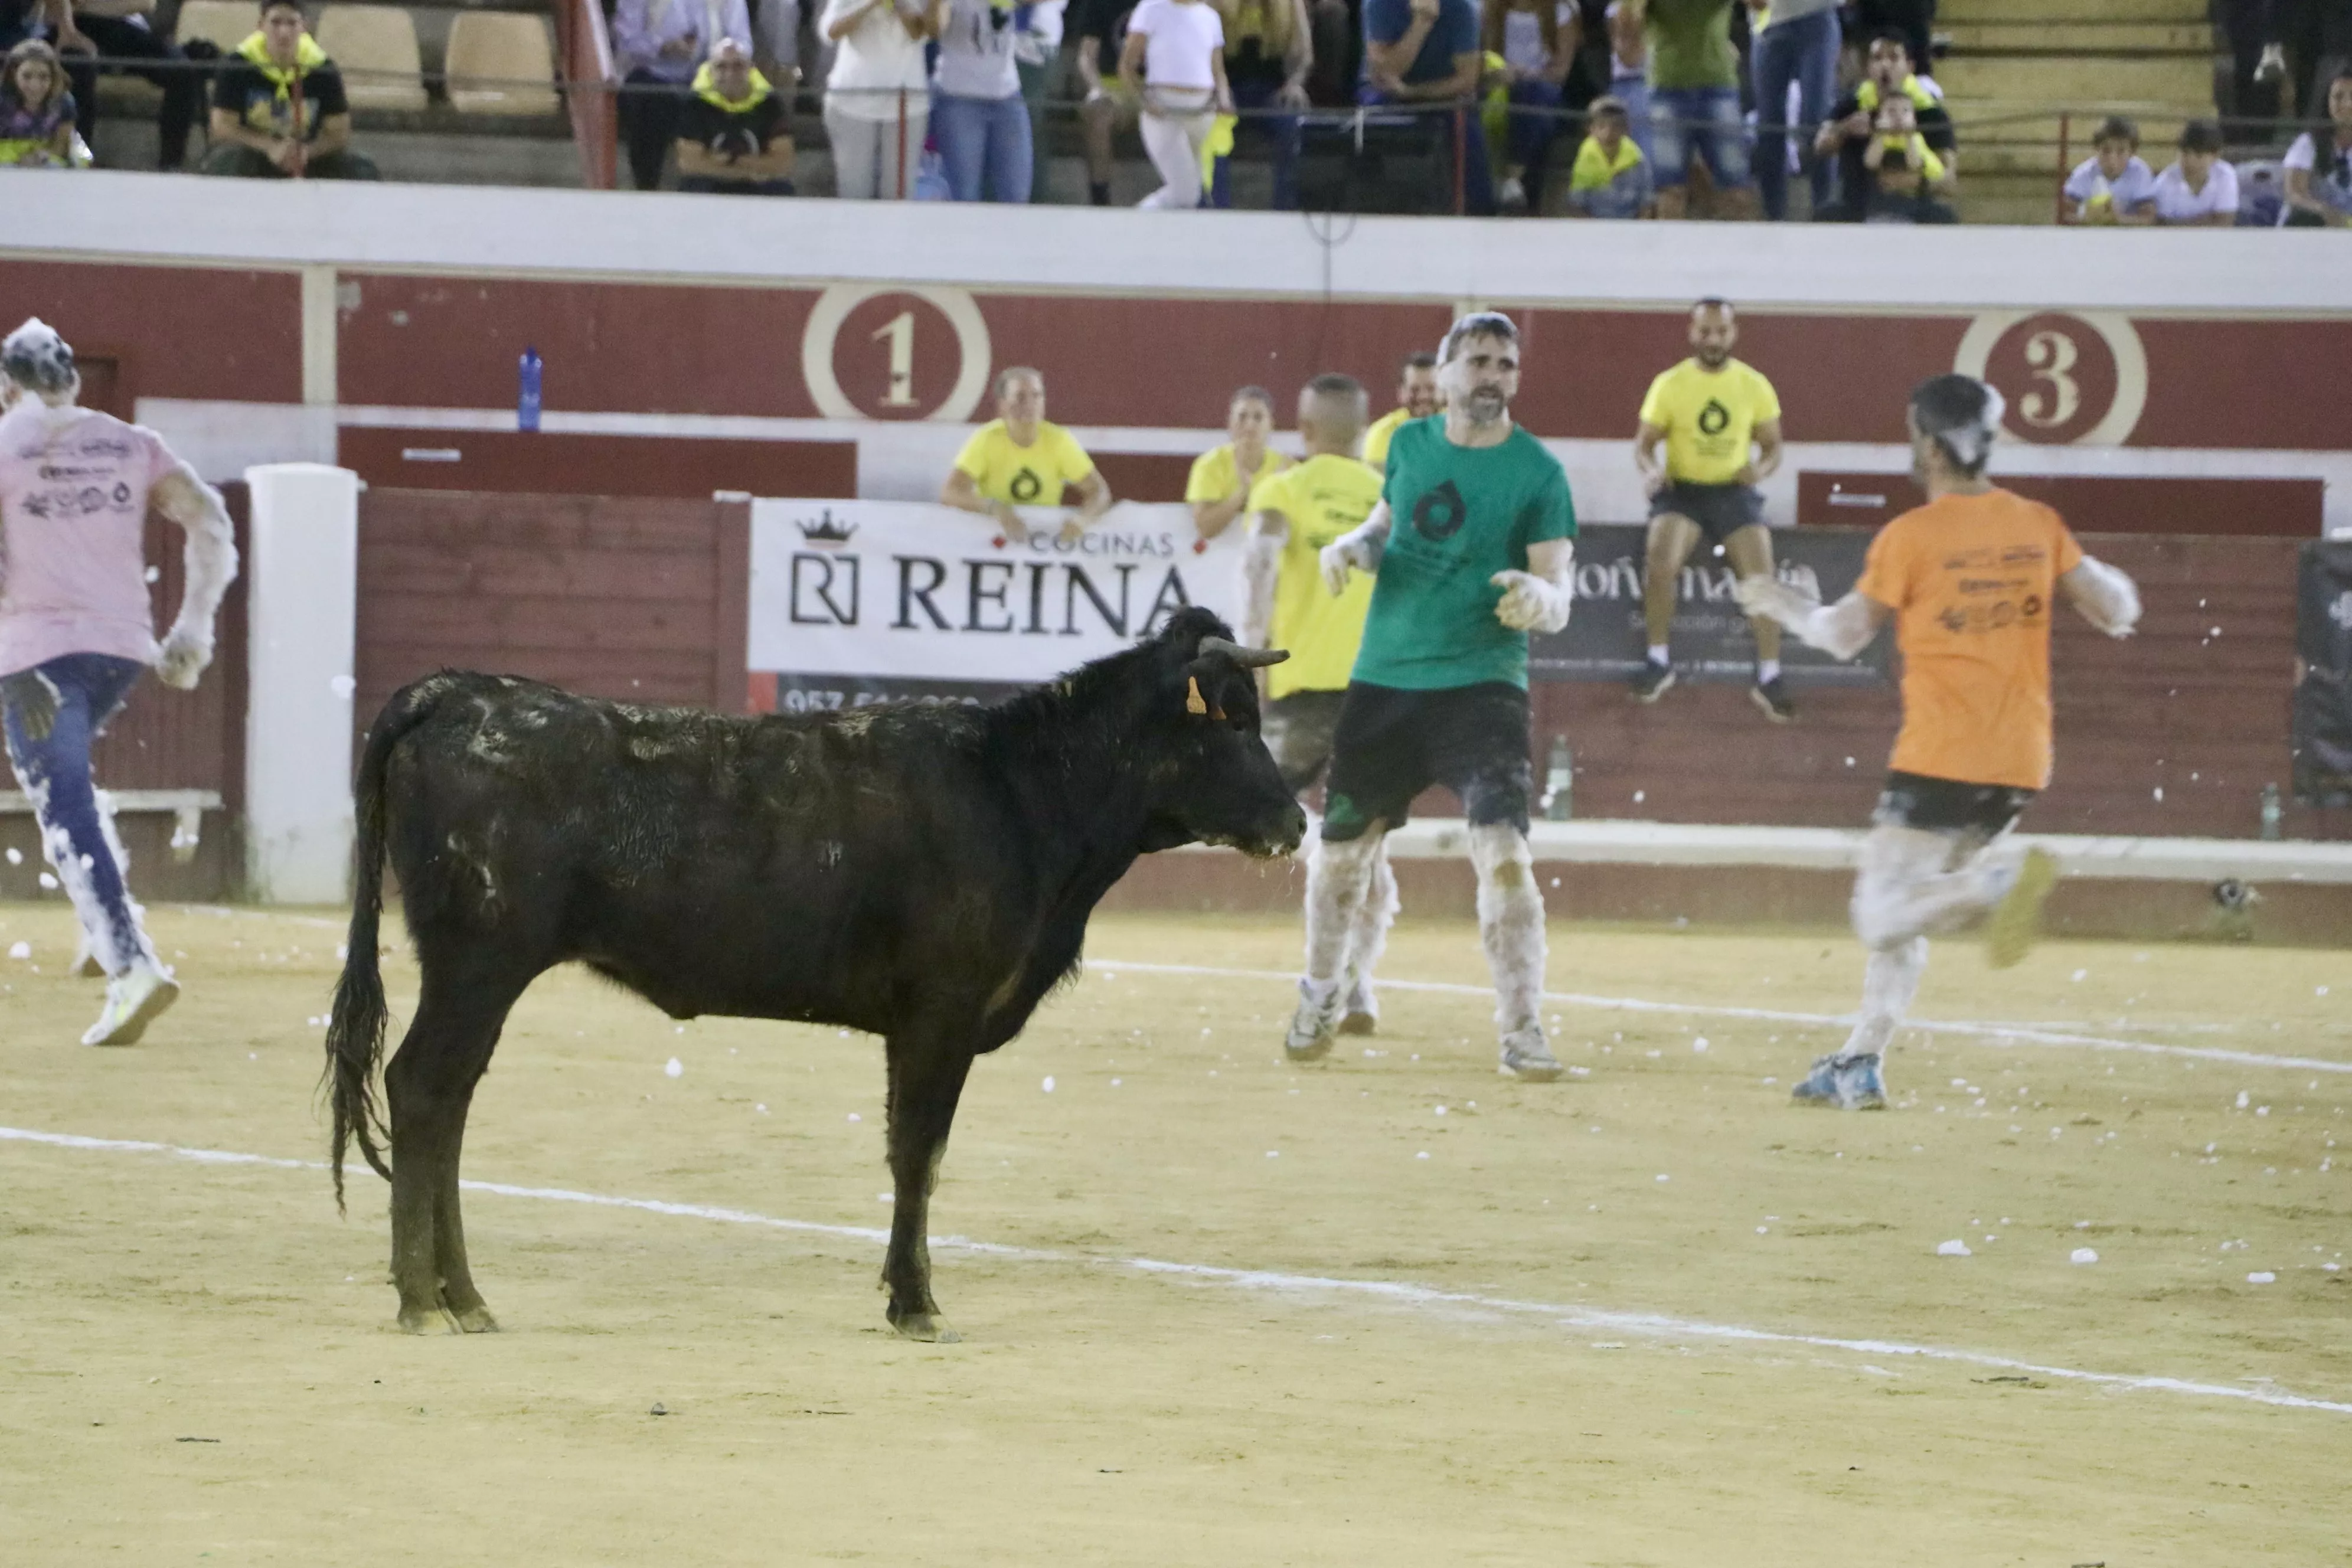
[[[315,1159],[275,1159],[270,1154],[238,1154],[230,1150],[186,1150],[169,1143],[146,1143],[136,1138],[85,1138],[80,1133],[38,1133],[16,1126],[0,1126],[0,1143],[40,1143],[61,1150],[96,1150],[106,1154],[169,1154],[212,1166],[268,1166],[273,1171],[325,1171]],[[543,1204],[588,1204],[593,1208],[635,1208],[680,1220],[715,1220],[720,1225],[755,1225],[762,1229],[788,1229],[816,1237],[842,1237],[849,1241],[889,1241],[889,1232],[868,1225],[821,1225],[816,1220],[783,1220],[753,1213],[748,1208],[710,1208],[706,1204],[666,1204],[661,1199],[626,1199],[604,1192],[572,1192],[567,1187],[515,1187],[510,1182],[459,1182],[468,1192],[489,1192],[513,1199],[539,1199]],[[1282,1274],[1275,1269],[1228,1269],[1207,1262],[1164,1262],[1160,1258],[1096,1258],[1089,1253],[1061,1253],[1028,1246],[1000,1246],[995,1241],[971,1241],[967,1237],[931,1237],[931,1246],[943,1251],[981,1253],[1011,1262],[1063,1262],[1080,1267],[1134,1269],[1138,1274],[1164,1274],[1176,1279],[1200,1279],[1242,1291],[1277,1291],[1287,1295],[1359,1295],[1395,1307],[1421,1309],[1475,1309],[1508,1312],[1515,1316],[1548,1319],[1562,1328],[1595,1328],[1628,1333],[1651,1340],[1717,1340],[1733,1345],[1792,1345],[1806,1349],[1837,1349],[1860,1356],[1907,1356],[1915,1361],[1943,1361],[1952,1366],[1978,1366],[2009,1375],[2056,1378],[2063,1382],[2089,1382],[2110,1389],[2138,1389],[2152,1394],[2187,1394],[2192,1399],[2246,1399],[2265,1406],[2296,1410],[2331,1410],[2352,1415],[2352,1401],[2312,1399],[2288,1394],[2270,1385],[2197,1382],[2190,1378],[2136,1378],[2126,1373],[2089,1373],[2074,1366],[2046,1366],[2042,1361],[2018,1361],[1976,1349],[1945,1349],[1938,1345],[1903,1345],[1896,1340],[1837,1340],[1813,1333],[1780,1333],[1773,1328],[1743,1328],[1738,1324],[1708,1324],[1700,1319],[1665,1316],[1661,1312],[1606,1312],[1602,1307],[1573,1307],[1562,1302],[1526,1302],[1501,1295],[1472,1295],[1465,1291],[1437,1291],[1402,1279],[1324,1279],[1317,1274]]]

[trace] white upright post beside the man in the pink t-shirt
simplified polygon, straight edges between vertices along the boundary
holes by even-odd
[[[247,468],[252,672],[245,882],[261,903],[350,898],[350,693],[360,621],[360,475]]]

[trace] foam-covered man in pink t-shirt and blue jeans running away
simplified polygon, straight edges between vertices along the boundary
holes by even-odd
[[[179,999],[179,983],[122,884],[89,743],[141,670],[195,686],[238,545],[219,491],[153,430],[75,407],[80,388],[73,350],[40,320],[0,341],[0,729],[42,856],[106,971],[106,1011],[82,1044],[127,1046]],[[151,503],[188,531],[188,588],[162,644],[146,590]]]

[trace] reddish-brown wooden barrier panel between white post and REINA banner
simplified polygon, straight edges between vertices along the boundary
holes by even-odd
[[[750,505],[372,489],[355,717],[442,668],[743,712]]]

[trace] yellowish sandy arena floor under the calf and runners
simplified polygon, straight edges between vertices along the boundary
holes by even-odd
[[[1849,940],[1555,926],[1559,992],[1691,1011],[1562,999],[1526,1086],[1468,926],[1301,1070],[1294,926],[1105,917],[974,1074],[934,1222],[997,1251],[910,1345],[877,1041],[541,980],[466,1164],[536,1190],[468,1197],[506,1333],[407,1338],[383,1185],[294,1164],[339,922],[155,929],[188,997],[85,1051],[64,907],[0,907],[14,1568],[2352,1561],[2343,954],[1950,943],[1922,1013],[2039,1037],[1839,1117],[1785,1095],[1842,1032],[1733,1009],[1846,1011]]]

